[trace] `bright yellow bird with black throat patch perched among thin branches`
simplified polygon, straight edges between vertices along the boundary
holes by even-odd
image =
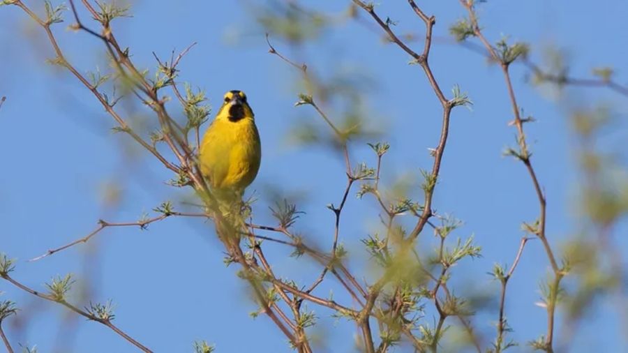
[[[242,91],[228,91],[222,107],[203,136],[199,164],[218,195],[238,195],[257,176],[262,159],[253,110]]]

